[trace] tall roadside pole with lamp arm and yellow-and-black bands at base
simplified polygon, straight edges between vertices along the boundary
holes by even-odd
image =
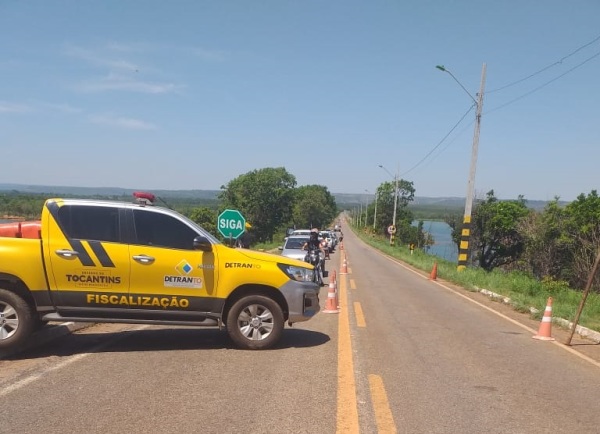
[[[477,114],[475,115],[475,131],[473,132],[473,149],[471,151],[471,168],[469,170],[469,181],[467,182],[467,198],[465,201],[465,215],[463,218],[463,229],[460,236],[460,249],[458,253],[458,270],[464,270],[469,263],[469,236],[471,235],[471,211],[473,208],[473,191],[475,187],[475,169],[477,166],[477,149],[479,147],[479,130],[481,128],[481,109],[483,107],[483,90],[485,88],[485,71],[486,65],[483,64],[481,69],[481,84],[479,86],[479,93],[477,94],[477,100],[473,98],[473,95],[469,93],[467,89],[461,84],[460,81],[443,65],[437,65],[437,69],[450,74],[450,77],[456,81],[459,86],[469,95],[469,97],[475,103],[477,107]]]

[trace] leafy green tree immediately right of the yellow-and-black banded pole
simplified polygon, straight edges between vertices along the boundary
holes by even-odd
[[[473,258],[486,271],[519,259],[524,241],[517,227],[529,210],[522,196],[516,201],[499,201],[494,191],[473,212],[471,245]]]

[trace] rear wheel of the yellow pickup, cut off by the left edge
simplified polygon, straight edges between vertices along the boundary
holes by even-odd
[[[0,288],[0,349],[23,344],[34,329],[35,318],[27,302]]]

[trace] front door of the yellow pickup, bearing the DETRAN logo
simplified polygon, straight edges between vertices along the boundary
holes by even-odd
[[[130,245],[132,308],[145,318],[201,317],[218,310],[215,256],[193,247],[199,234],[173,215],[133,210]]]

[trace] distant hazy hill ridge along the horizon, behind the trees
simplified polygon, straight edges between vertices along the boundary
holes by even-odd
[[[49,196],[130,196],[136,189],[119,187],[68,187],[51,185],[25,185],[1,184],[0,192],[12,191],[15,193],[47,194]],[[221,190],[152,190],[152,193],[162,198],[217,200]],[[341,208],[351,208],[357,205],[373,202],[372,194],[332,193],[335,201]],[[566,204],[567,202],[564,202]],[[541,210],[546,206],[546,201],[527,201],[530,208]],[[464,209],[465,198],[460,197],[415,197],[410,207],[420,209]]]

